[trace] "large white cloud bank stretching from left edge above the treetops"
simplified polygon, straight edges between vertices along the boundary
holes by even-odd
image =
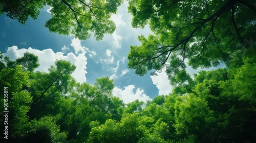
[[[4,56],[10,57],[11,60],[22,57],[25,52],[33,53],[38,56],[40,66],[35,70],[48,72],[48,68],[55,63],[56,60],[66,60],[70,61],[72,64],[76,65],[75,71],[72,73],[77,82],[86,82],[87,74],[87,57],[84,53],[80,53],[77,56],[73,53],[68,53],[67,56],[63,55],[62,52],[54,53],[52,49],[46,50],[36,50],[29,47],[28,49],[18,49],[17,46],[8,47],[7,52]]]

